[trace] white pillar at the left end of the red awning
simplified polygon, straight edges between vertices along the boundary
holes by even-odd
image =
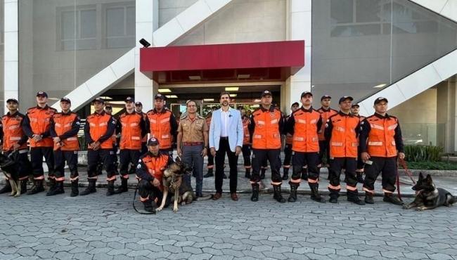
[[[153,44],[153,32],[159,24],[159,1],[136,0],[136,48],[135,48],[135,101],[143,103],[143,112],[153,108],[153,99],[159,84],[140,72],[139,40],[144,38]]]

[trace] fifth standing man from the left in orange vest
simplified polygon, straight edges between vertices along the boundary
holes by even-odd
[[[135,111],[134,98],[125,98],[125,112],[117,120],[117,129],[121,134],[119,157],[122,183],[115,193],[125,193],[129,190],[129,165],[133,164],[133,168],[136,169],[140,158],[141,140],[146,136],[146,122],[143,115]]]

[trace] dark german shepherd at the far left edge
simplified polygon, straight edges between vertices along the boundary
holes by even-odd
[[[18,162],[18,151],[12,152],[8,156],[0,154],[0,168],[4,171],[6,178],[11,184],[10,196],[19,197],[21,193],[20,178],[32,172],[30,162]]]

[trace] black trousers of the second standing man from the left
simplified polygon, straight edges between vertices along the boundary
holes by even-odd
[[[32,162],[32,174],[35,180],[44,179],[43,157],[48,166],[48,177],[54,178],[54,153],[52,147],[30,148],[30,162]]]

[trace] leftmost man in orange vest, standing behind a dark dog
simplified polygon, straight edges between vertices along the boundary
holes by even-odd
[[[29,148],[27,147],[27,136],[22,131],[22,123],[24,122],[25,115],[22,115],[19,110],[19,102],[15,98],[9,98],[6,100],[6,108],[8,112],[6,115],[1,117],[0,124],[0,147],[3,150],[4,155],[11,155],[12,152],[18,151],[18,162],[23,164],[30,164],[29,158],[27,157],[27,152]],[[19,167],[18,175],[20,180],[20,193],[27,192],[27,178],[30,172],[27,171],[26,167]],[[4,188],[1,188],[1,193],[10,193],[11,184],[6,178],[6,183]]]

